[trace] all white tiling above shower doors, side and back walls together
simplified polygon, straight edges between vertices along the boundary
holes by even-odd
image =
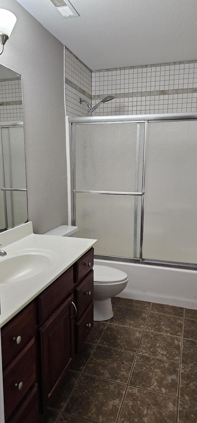
[[[197,60],[91,72],[65,47],[67,115],[86,115],[79,97],[94,106],[108,95],[93,115],[196,112]]]

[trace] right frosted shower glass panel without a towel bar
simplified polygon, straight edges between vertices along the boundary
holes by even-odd
[[[143,258],[197,263],[197,121],[148,123]]]

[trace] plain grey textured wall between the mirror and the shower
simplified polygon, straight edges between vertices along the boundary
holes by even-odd
[[[17,17],[0,63],[22,74],[29,220],[35,233],[67,224],[64,47],[16,0]]]

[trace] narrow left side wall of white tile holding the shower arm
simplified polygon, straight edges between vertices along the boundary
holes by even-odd
[[[92,72],[65,47],[65,99],[68,116],[85,116],[87,106],[79,98],[91,104]]]

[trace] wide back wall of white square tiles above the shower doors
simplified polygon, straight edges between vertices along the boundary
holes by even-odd
[[[92,72],[94,115],[197,111],[197,60]]]

